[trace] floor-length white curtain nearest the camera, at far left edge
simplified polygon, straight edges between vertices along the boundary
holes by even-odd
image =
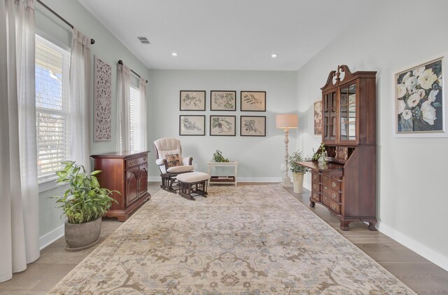
[[[34,0],[0,3],[0,282],[39,257]]]

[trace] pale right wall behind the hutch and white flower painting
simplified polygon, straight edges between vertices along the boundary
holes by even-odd
[[[297,144],[311,152],[321,142],[313,135],[312,103],[320,99],[320,88],[331,70],[347,64],[352,72],[377,71],[379,229],[448,270],[444,170],[448,139],[394,138],[392,133],[392,73],[448,50],[447,11],[445,0],[381,1],[377,10],[369,12],[370,18],[351,27],[302,67],[297,74],[302,118]]]

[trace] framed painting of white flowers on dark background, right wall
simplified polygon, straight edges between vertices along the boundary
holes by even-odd
[[[447,53],[393,74],[395,137],[448,137],[443,81]]]

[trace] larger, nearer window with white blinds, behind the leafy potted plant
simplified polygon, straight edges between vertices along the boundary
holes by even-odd
[[[70,53],[36,35],[37,176],[42,183],[55,178],[70,157]]]

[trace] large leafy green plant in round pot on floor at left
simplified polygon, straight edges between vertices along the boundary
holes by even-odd
[[[99,186],[94,175],[96,170],[86,173],[83,165],[73,161],[62,162],[64,169],[57,171],[57,182],[68,184],[64,195],[55,196],[58,208],[62,208],[67,217],[65,221],[66,249],[86,249],[99,240],[102,216],[109,210],[114,200],[109,195],[118,191],[110,191]]]

